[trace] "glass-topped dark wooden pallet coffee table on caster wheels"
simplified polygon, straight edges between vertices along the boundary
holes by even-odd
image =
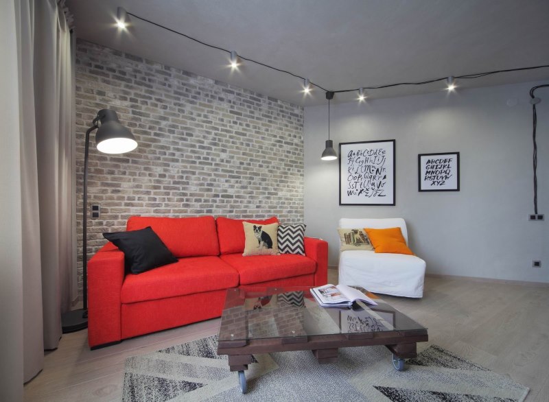
[[[381,298],[356,287],[377,305],[355,303],[352,309],[320,307],[310,287],[227,290],[218,338],[218,355],[229,356],[246,392],[244,370],[254,353],[310,350],[320,364],[334,363],[338,348],[385,345],[393,366],[417,356],[417,342],[427,342],[427,329]]]

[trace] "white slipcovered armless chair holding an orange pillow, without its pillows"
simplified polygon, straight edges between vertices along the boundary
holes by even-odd
[[[340,228],[401,229],[406,244],[408,230],[402,218],[339,220]],[[366,250],[340,252],[339,283],[358,285],[370,292],[392,296],[423,297],[425,261],[414,255],[376,253]]]

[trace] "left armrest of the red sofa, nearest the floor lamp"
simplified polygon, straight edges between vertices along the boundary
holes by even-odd
[[[88,262],[88,343],[91,348],[121,340],[124,252],[107,243]]]

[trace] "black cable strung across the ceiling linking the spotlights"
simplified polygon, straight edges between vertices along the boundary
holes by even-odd
[[[198,40],[196,38],[193,38],[192,36],[189,36],[187,34],[183,34],[183,32],[178,32],[176,31],[175,29],[172,29],[172,28],[169,28],[169,27],[165,27],[164,25],[161,25],[159,23],[155,23],[154,21],[151,21],[149,19],[145,19],[143,18],[142,16],[139,16],[139,15],[136,15],[136,14],[133,14],[132,12],[129,12],[129,11],[126,11],[124,10],[123,8],[119,7],[119,10],[121,10],[121,12],[123,12],[125,15],[129,15],[129,16],[132,16],[132,17],[135,17],[136,19],[139,19],[141,21],[144,21],[146,23],[150,23],[152,25],[155,25],[156,27],[160,27],[162,29],[165,29],[169,32],[172,32],[174,34],[177,34],[177,35],[180,35],[180,36],[184,36],[185,38],[189,39],[189,40],[193,40],[194,42],[196,43],[200,43],[200,45],[204,45],[204,46],[207,46],[207,47],[211,47],[212,49],[218,49],[220,51],[224,51],[226,52],[227,54],[231,55],[233,53],[235,53],[234,51],[231,51],[229,49],[224,49],[223,47],[220,47],[220,46],[215,46],[215,45],[211,45],[209,43],[205,43],[203,42],[202,40]],[[294,74],[292,73],[291,71],[288,71],[288,70],[284,70],[284,69],[279,69],[278,67],[273,67],[273,66],[270,66],[269,64],[265,64],[263,62],[259,62],[257,60],[253,60],[251,58],[247,58],[247,57],[244,57],[242,56],[241,54],[238,54],[238,58],[240,58],[241,60],[246,60],[248,62],[252,62],[254,64],[258,64],[260,66],[263,66],[263,67],[266,67],[268,69],[271,69],[271,70],[274,70],[274,71],[279,71],[280,73],[285,73],[285,74],[288,74],[288,75],[292,75],[292,77],[295,77],[295,78],[300,78],[301,80],[307,80],[307,82],[309,82],[309,84],[311,85],[314,85],[316,86],[317,88],[320,88],[322,89],[323,91],[325,92],[332,92],[332,93],[345,93],[345,92],[353,92],[353,91],[358,91],[360,92],[361,88],[362,88],[362,91],[366,90],[366,89],[382,89],[382,88],[390,88],[392,86],[401,86],[401,85],[425,85],[425,84],[432,84],[433,82],[439,82],[439,81],[445,81],[447,80],[448,78],[447,77],[443,77],[443,78],[436,78],[434,80],[427,80],[427,81],[420,81],[420,82],[397,82],[395,84],[385,84],[385,85],[378,85],[378,86],[361,86],[359,88],[353,88],[353,89],[342,89],[342,90],[339,90],[339,91],[329,91],[327,90],[326,88],[323,88],[323,86],[320,86],[319,84],[316,84],[312,81],[308,81],[307,78],[305,77],[302,77],[301,75],[298,75],[298,74]],[[506,70],[496,70],[496,71],[487,71],[485,73],[474,73],[474,74],[464,74],[464,75],[456,75],[454,76],[453,78],[454,79],[471,79],[471,78],[480,78],[480,77],[485,77],[486,75],[492,75],[492,74],[498,74],[498,73],[506,73],[506,72],[511,72],[511,71],[524,71],[524,70],[533,70],[533,69],[544,69],[544,68],[547,68],[549,67],[549,64],[547,65],[541,65],[541,66],[535,66],[535,67],[519,67],[517,69],[506,69]]]

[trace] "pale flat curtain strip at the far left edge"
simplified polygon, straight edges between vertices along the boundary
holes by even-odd
[[[23,399],[23,244],[16,8],[0,1],[0,401]]]

